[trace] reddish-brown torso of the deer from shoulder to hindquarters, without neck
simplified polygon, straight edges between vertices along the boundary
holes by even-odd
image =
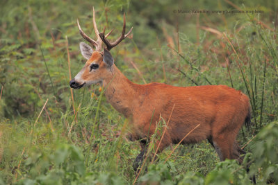
[[[170,119],[159,146],[161,151],[179,143],[200,124],[182,143],[208,139],[221,161],[242,161],[239,157],[245,152],[239,148],[236,136],[243,123],[250,121],[250,103],[241,91],[224,85],[173,87],[159,83],[137,85],[136,89],[140,95],[133,106],[134,139],[154,134],[161,117],[166,123]]]

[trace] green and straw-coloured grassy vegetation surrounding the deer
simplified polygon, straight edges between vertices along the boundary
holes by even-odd
[[[133,36],[111,53],[133,82],[222,84],[250,97],[252,127],[238,135],[247,150],[242,165],[220,162],[204,141],[146,159],[147,170],[136,177],[132,164],[140,147],[126,139],[128,121],[98,85],[69,86],[85,62],[76,18],[94,35],[92,6],[99,30],[115,28],[110,39],[126,13]],[[277,10],[275,0],[1,1],[0,184],[251,184],[252,175],[258,184],[277,184]]]

